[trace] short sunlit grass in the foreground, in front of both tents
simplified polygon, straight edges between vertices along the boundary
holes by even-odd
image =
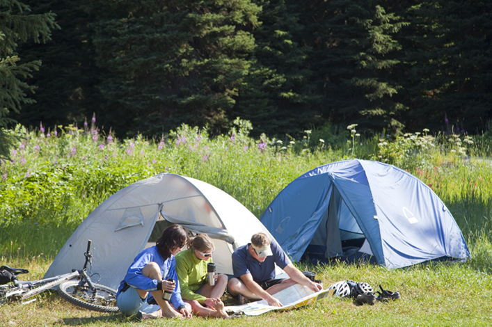
[[[41,260],[42,261],[42,260]],[[13,262],[15,264],[15,262]],[[24,265],[26,266],[26,265]],[[39,278],[49,262],[31,260],[31,278]],[[352,279],[398,291],[402,298],[388,303],[357,305],[350,298],[331,297],[296,310],[268,312],[257,317],[191,321],[138,322],[122,314],[105,314],[75,307],[56,292],[45,292],[27,305],[0,308],[0,326],[491,326],[492,278],[468,264],[428,264],[404,270],[379,266],[335,264],[303,266],[317,273],[325,287]],[[236,305],[225,296],[226,305]]]

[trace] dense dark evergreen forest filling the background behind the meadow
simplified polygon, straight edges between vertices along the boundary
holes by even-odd
[[[0,127],[481,134],[492,118],[488,0],[0,0],[0,32]]]

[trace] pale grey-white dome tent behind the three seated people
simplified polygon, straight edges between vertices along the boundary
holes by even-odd
[[[217,271],[232,275],[232,252],[257,232],[271,234],[235,198],[190,177],[163,173],[131,184],[102,202],[79,225],[45,278],[81,269],[87,241],[93,241],[98,282],[117,289],[134,258],[152,246],[170,223],[189,234],[207,233],[215,246]],[[273,239],[271,237],[271,239]],[[280,269],[277,271],[282,273]]]

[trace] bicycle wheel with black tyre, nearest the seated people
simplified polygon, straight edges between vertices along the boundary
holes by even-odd
[[[116,291],[104,285],[94,284],[95,292],[89,285],[79,285],[78,280],[68,280],[58,286],[58,294],[68,302],[81,308],[99,312],[117,312]]]

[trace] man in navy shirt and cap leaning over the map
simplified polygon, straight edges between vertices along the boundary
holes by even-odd
[[[287,273],[287,279],[275,279],[275,264]],[[276,241],[270,241],[267,234],[257,233],[251,237],[251,243],[237,248],[232,253],[232,271],[234,278],[228,284],[232,296],[242,296],[249,300],[264,299],[276,307],[282,303],[272,295],[296,283],[305,285],[314,292],[323,289],[322,285],[312,282],[299,271]],[[242,301],[240,300],[241,304]]]

